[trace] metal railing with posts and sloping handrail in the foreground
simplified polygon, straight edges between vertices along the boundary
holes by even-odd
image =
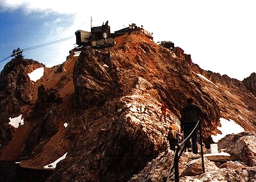
[[[201,153],[201,158],[202,158],[202,169],[203,169],[203,173],[205,172],[205,169],[204,169],[203,144],[202,144],[202,126],[201,126],[200,120],[198,120],[198,122],[196,123],[195,128],[188,135],[188,137],[186,137],[186,139],[184,139],[182,142],[180,142],[178,144],[175,144],[174,157],[173,157],[172,165],[170,167],[170,171],[169,171],[169,174],[167,176],[166,182],[169,182],[170,177],[173,178],[173,174],[172,174],[173,169],[174,169],[175,182],[179,182],[179,159],[180,159],[180,156],[182,155],[182,153],[186,149],[186,146],[184,145],[184,143],[186,142],[186,140],[191,139],[191,135],[192,135],[193,132],[195,132],[197,126],[199,126],[199,133],[200,133],[200,148],[201,148],[200,149],[200,153]]]

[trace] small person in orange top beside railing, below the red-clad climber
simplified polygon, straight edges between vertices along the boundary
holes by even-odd
[[[175,151],[176,144],[178,144],[181,140],[180,137],[181,136],[179,133],[179,128],[174,123],[171,123],[168,130],[167,139],[169,141],[170,149],[172,151]]]

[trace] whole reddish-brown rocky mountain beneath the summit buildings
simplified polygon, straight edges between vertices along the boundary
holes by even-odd
[[[64,154],[47,181],[164,181],[173,151],[166,140],[170,122],[193,97],[208,114],[202,121],[204,151],[220,133],[220,118],[245,130],[227,135],[219,149],[225,161],[206,158],[205,173],[191,153],[180,158],[180,181],[256,180],[255,73],[243,82],[202,70],[179,47],[166,49],[143,33],[115,38],[115,46],[70,50],[67,61],[46,68],[14,58],[0,75],[0,159],[42,169]],[[207,60],[205,60],[207,61]],[[28,73],[44,67],[32,81]],[[164,102],[171,114],[159,120]],[[22,114],[24,125],[9,118]],[[223,160],[223,159],[222,159]]]

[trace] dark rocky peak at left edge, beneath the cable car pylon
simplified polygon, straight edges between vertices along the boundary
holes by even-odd
[[[19,116],[33,103],[33,82],[28,73],[40,64],[32,59],[12,59],[4,66],[0,75],[0,144],[4,145],[12,139],[13,130],[8,125],[10,117]]]

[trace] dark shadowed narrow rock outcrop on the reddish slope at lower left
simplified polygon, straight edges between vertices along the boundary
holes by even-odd
[[[28,157],[35,147],[43,140],[47,140],[58,131],[56,119],[58,113],[49,108],[56,107],[62,102],[62,98],[54,89],[45,89],[44,85],[38,87],[38,98],[32,112],[29,114],[27,121],[33,122],[33,128],[26,139],[24,151],[20,157]]]

